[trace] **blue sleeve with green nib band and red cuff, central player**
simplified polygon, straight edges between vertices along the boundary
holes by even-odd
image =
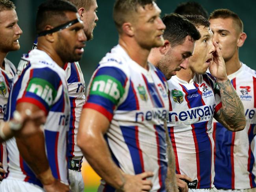
[[[113,111],[124,95],[127,77],[116,67],[102,67],[95,72],[87,102],[83,108],[91,108],[108,118],[113,118]]]

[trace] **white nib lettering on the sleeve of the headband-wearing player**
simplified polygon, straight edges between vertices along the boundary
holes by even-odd
[[[37,94],[39,97],[45,100],[48,105],[52,104],[52,89],[48,85],[45,85],[43,88],[41,85],[32,83],[28,91]]]

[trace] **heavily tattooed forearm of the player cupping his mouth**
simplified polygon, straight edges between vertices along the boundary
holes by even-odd
[[[245,128],[246,119],[243,103],[237,95],[230,80],[217,82],[221,94],[221,109],[214,118],[230,131],[240,131]]]

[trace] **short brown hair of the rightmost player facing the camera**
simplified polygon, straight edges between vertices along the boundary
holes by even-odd
[[[229,9],[216,9],[214,10],[209,17],[210,19],[214,19],[214,18],[232,18],[234,20],[234,22],[237,24],[237,26],[239,27],[240,32],[243,32],[243,22],[242,20],[238,17],[238,15],[236,13],[234,13],[233,11],[230,11]]]

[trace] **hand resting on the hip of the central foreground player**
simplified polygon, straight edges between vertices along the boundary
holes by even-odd
[[[120,191],[124,192],[146,192],[150,191],[152,188],[152,182],[146,180],[148,177],[152,177],[154,174],[152,172],[143,172],[137,175],[124,174],[125,183]],[[143,180],[145,179],[145,180]]]

